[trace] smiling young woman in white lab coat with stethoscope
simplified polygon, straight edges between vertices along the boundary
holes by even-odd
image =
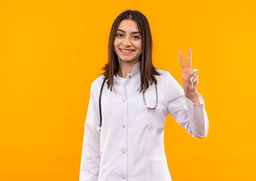
[[[187,66],[180,51],[179,57],[184,89],[153,66],[146,17],[128,10],[115,19],[105,72],[90,89],[79,181],[171,181],[164,152],[166,116],[195,138],[205,138],[209,127],[191,49]]]

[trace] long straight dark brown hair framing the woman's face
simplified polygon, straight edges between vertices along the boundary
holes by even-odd
[[[119,16],[117,16],[113,22],[108,40],[108,63],[101,69],[105,70],[105,72],[102,74],[105,76],[104,80],[108,85],[108,89],[110,88],[110,91],[112,91],[112,87],[114,86],[114,74],[117,74],[119,67],[118,57],[114,51],[114,40],[117,28],[122,20],[135,21],[139,31],[141,32],[142,53],[139,56],[139,61],[141,63],[141,85],[139,87],[139,92],[143,91],[143,93],[145,93],[146,89],[149,87],[149,84],[152,85],[154,83],[153,81],[157,81],[154,75],[160,75],[160,73],[157,72],[152,63],[152,36],[148,20],[141,12],[137,10],[124,11]]]

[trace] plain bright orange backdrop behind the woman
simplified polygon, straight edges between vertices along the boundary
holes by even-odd
[[[256,181],[253,0],[0,1],[0,180],[79,179],[90,85],[107,63],[112,22],[148,18],[153,63],[182,85],[178,50],[192,49],[209,133],[196,139],[168,115],[173,181]]]

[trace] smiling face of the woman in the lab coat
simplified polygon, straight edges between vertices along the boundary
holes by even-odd
[[[114,50],[119,62],[134,61],[136,63],[139,60],[142,53],[142,40],[135,21],[122,20],[120,22],[115,35]]]

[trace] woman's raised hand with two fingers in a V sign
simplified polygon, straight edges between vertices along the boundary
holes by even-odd
[[[191,48],[188,51],[188,60],[187,66],[185,65],[181,51],[179,50],[180,66],[182,70],[182,82],[184,94],[189,98],[193,103],[200,104],[197,95],[198,89],[198,69],[191,69]]]

